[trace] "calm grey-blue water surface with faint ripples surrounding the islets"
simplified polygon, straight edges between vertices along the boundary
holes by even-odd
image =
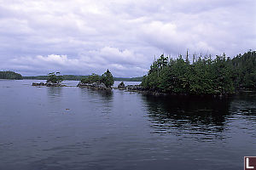
[[[256,156],[256,93],[179,99],[32,82],[0,80],[0,169],[234,170]]]

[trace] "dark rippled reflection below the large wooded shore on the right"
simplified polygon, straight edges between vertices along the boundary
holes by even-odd
[[[195,135],[194,139],[225,138],[230,99],[143,96],[154,133]]]

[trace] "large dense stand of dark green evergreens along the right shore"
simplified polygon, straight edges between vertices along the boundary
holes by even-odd
[[[164,54],[154,60],[143,88],[169,94],[233,94],[241,88],[256,88],[256,52],[248,51],[233,59],[225,54],[196,56],[189,61],[179,55],[168,59]]]

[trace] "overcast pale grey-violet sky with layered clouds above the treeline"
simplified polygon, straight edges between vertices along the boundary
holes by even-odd
[[[0,71],[140,77],[154,55],[256,47],[255,0],[0,0]]]

